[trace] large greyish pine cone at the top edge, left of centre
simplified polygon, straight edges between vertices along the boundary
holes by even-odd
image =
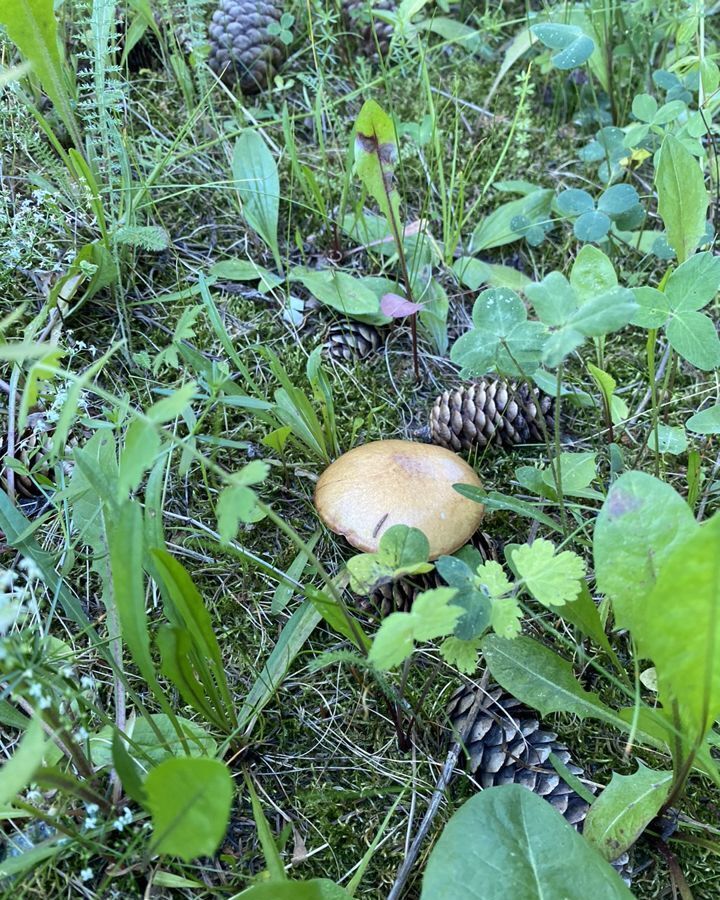
[[[267,87],[283,56],[283,44],[268,25],[279,23],[282,0],[219,0],[208,27],[208,64],[226,84],[246,94]]]

